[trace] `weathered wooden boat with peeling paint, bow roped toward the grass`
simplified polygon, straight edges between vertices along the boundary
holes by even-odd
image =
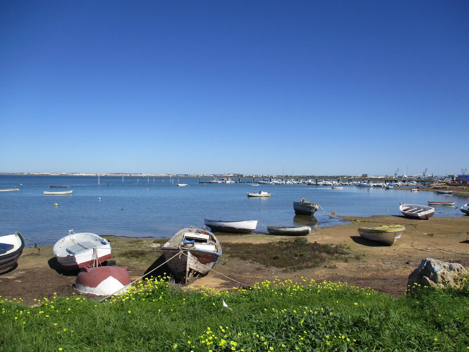
[[[206,275],[221,256],[217,237],[203,229],[189,227],[178,231],[161,248],[173,276],[186,284],[191,278]],[[175,254],[183,251],[181,255]],[[174,258],[173,258],[174,257]]]

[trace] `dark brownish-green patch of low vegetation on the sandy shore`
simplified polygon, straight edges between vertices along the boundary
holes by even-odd
[[[340,255],[340,258],[343,259],[343,256],[348,254],[345,247],[341,245],[294,241],[279,241],[267,245],[249,246],[244,243],[226,243],[223,245],[223,251],[230,257],[290,270],[315,268],[333,260],[336,255]]]

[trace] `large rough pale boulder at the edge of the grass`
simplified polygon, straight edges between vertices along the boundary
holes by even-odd
[[[469,275],[469,270],[458,263],[447,263],[433,258],[424,258],[408,278],[408,290],[419,287],[461,288],[462,279]]]

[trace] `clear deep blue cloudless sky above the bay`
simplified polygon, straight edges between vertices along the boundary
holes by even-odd
[[[0,172],[469,167],[469,1],[1,1]]]

